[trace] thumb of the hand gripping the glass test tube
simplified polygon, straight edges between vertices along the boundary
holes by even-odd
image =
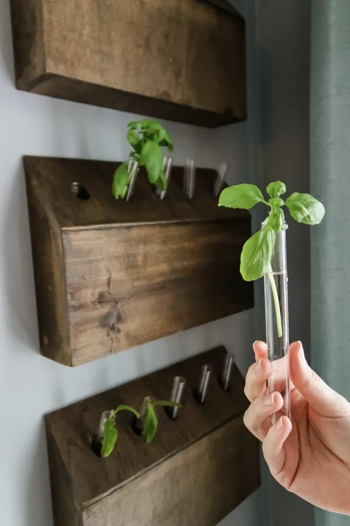
[[[327,384],[307,364],[300,341],[289,347],[289,365],[294,386],[307,402],[323,416],[342,414],[345,399]]]

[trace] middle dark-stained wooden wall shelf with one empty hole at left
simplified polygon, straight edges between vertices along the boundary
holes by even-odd
[[[253,306],[239,274],[250,215],[217,206],[215,170],[197,169],[191,201],[183,168],[164,201],[141,170],[126,202],[111,194],[116,166],[25,158],[41,352],[69,366]]]

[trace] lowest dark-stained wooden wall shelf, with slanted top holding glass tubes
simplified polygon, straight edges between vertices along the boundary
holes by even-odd
[[[259,487],[258,441],[242,422],[244,380],[235,367],[228,392],[217,381],[225,353],[217,347],[46,416],[55,526],[215,526]],[[204,364],[214,374],[200,405],[192,391]],[[186,379],[178,419],[158,407],[158,432],[146,444],[121,412],[115,449],[97,457],[89,438],[102,412],[168,399],[174,376]]]

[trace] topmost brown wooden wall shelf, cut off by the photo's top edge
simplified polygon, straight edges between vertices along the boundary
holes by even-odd
[[[11,0],[19,89],[200,126],[246,118],[245,22],[198,0]]]

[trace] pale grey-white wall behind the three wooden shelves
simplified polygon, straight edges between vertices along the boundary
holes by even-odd
[[[248,4],[247,4],[248,5]],[[250,11],[252,2],[249,3]],[[249,31],[251,32],[251,26]],[[118,355],[69,369],[40,356],[22,169],[24,154],[120,160],[129,152],[132,115],[19,92],[14,87],[8,0],[0,0],[0,524],[51,526],[43,414],[109,389],[218,343],[252,360],[253,311],[209,323]],[[249,178],[251,129],[210,131],[165,123],[175,162],[194,156],[215,167],[229,159],[231,181]],[[224,138],[225,137],[225,138]],[[208,298],[210,301],[210,298]],[[258,524],[260,491],[227,518]],[[268,523],[268,522],[267,522]],[[261,520],[259,520],[261,524]],[[185,525],[184,525],[185,526]]]

